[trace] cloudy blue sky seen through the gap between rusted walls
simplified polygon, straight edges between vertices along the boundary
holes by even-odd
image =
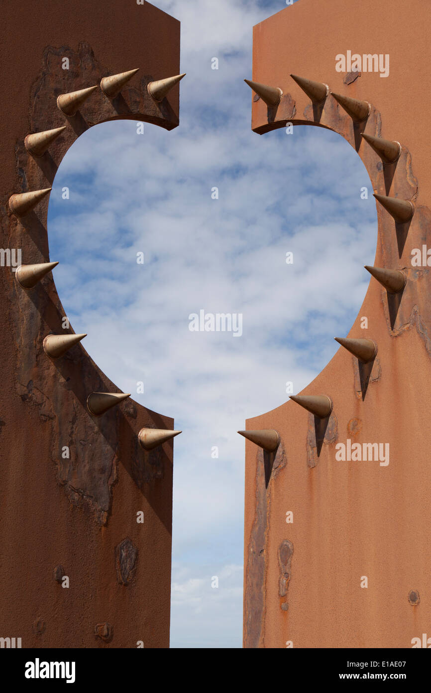
[[[171,647],[241,647],[236,431],[286,401],[286,381],[299,392],[338,349],[333,337],[348,333],[367,290],[376,208],[362,162],[338,135],[250,130],[252,27],[284,3],[156,4],[182,23],[180,125],[146,123],[137,134],[134,121],[115,121],[84,133],[55,177],[50,254],[71,325],[89,333],[86,351],[183,429],[174,442]],[[201,309],[242,313],[242,336],[190,332],[189,315]]]

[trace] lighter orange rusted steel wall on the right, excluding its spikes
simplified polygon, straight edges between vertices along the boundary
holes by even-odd
[[[253,80],[283,96],[273,109],[253,100],[253,130],[320,118],[356,148],[374,192],[415,211],[410,227],[396,225],[377,205],[374,265],[403,270],[405,290],[390,296],[371,278],[349,335],[334,335],[378,345],[365,397],[358,359],[343,348],[302,393],[333,401],[320,455],[314,416],[293,401],[246,423],[277,430],[281,444],[266,489],[264,453],[246,441],[245,647],[403,648],[431,636],[430,272],[411,264],[412,249],[431,245],[430,30],[426,0],[300,0],[254,28]],[[348,50],[389,53],[389,77],[336,72]],[[368,101],[367,121],[354,126],[331,94],[313,113],[291,73]],[[361,131],[400,142],[396,166],[383,166]],[[336,461],[347,439],[389,443],[389,465]]]

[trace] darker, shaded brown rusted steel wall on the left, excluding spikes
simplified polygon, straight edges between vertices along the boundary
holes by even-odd
[[[178,74],[180,27],[147,2],[120,0],[10,0],[2,18],[0,245],[21,248],[23,264],[41,263],[50,259],[48,198],[21,220],[8,198],[50,187],[68,147],[95,123],[175,128],[178,86],[158,104],[146,83]],[[57,108],[59,94],[134,68],[118,98],[98,87],[76,116]],[[28,133],[62,125],[44,157],[28,154]],[[44,337],[64,333],[53,277],[26,291],[0,268],[0,636],[22,647],[169,647],[172,441],[147,453],[137,434],[173,420],[131,399],[89,414],[90,392],[118,388],[81,344],[56,361],[44,353]],[[62,574],[69,588],[56,581]]]

